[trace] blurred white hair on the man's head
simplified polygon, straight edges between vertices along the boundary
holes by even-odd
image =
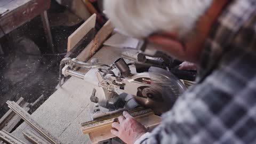
[[[145,38],[159,31],[185,38],[213,0],[105,0],[107,17],[123,34]]]

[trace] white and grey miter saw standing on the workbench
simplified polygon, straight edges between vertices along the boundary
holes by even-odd
[[[75,70],[86,68],[87,73]],[[145,106],[161,114],[169,110],[186,87],[169,71],[150,67],[147,72],[137,73],[134,63],[127,64],[119,58],[112,65],[91,63],[65,58],[61,61],[60,74],[84,79],[92,84],[91,112],[93,118],[118,110]]]

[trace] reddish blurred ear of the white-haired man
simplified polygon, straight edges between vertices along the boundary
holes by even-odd
[[[148,42],[158,46],[157,49],[167,52],[175,58],[183,59],[185,46],[178,40],[176,34],[160,33],[148,37]]]

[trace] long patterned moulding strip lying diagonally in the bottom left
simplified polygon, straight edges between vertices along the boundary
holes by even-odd
[[[43,126],[39,125],[31,115],[27,113],[27,111],[23,110],[17,103],[14,101],[6,102],[8,107],[14,111],[17,115],[19,115],[25,122],[27,122],[31,127],[33,127],[37,132],[43,135],[44,138],[49,140],[51,143],[59,144],[61,143],[57,138],[55,138],[49,131],[44,129]]]

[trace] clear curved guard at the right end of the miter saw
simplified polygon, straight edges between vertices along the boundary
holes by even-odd
[[[150,89],[162,94],[159,97],[162,97],[161,99],[163,100],[165,109],[169,110],[178,97],[185,92],[185,85],[180,79],[165,69],[150,67],[148,72],[151,78]]]

